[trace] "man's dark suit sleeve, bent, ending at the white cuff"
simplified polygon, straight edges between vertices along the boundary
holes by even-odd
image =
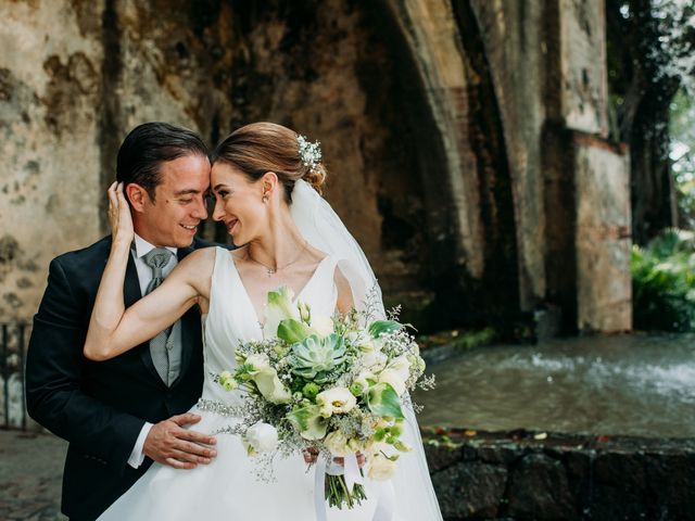
[[[85,303],[77,302],[60,263],[34,317],[26,360],[29,416],[86,455],[123,472],[144,420],[118,411],[80,389]]]

